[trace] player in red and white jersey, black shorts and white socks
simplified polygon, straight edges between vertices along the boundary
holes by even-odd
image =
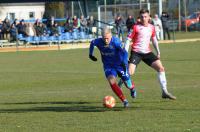
[[[176,97],[167,90],[165,69],[160,61],[160,50],[156,39],[155,27],[149,23],[149,11],[142,9],[140,11],[140,19],[141,23],[133,26],[132,33],[128,35],[126,40],[125,49],[127,51],[132,41],[131,55],[129,58],[129,73],[133,75],[136,66],[142,60],[158,72],[158,80],[162,89],[162,98],[175,100]],[[150,40],[152,40],[157,55],[155,55],[150,48]]]

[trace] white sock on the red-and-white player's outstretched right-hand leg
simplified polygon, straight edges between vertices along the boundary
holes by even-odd
[[[165,72],[158,72],[158,81],[160,83],[161,90],[168,93],[168,91],[167,91],[167,80],[166,80]]]

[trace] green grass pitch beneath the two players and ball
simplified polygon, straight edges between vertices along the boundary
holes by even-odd
[[[200,44],[160,49],[177,100],[161,99],[156,72],[141,63],[133,77],[137,99],[123,88],[128,109],[88,49],[0,53],[0,132],[199,132]],[[115,108],[102,106],[105,95],[117,99]]]

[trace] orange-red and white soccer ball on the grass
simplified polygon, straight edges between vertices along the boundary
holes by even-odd
[[[103,98],[103,105],[106,107],[106,108],[113,108],[116,104],[116,101],[115,101],[115,98],[113,96],[105,96]]]

